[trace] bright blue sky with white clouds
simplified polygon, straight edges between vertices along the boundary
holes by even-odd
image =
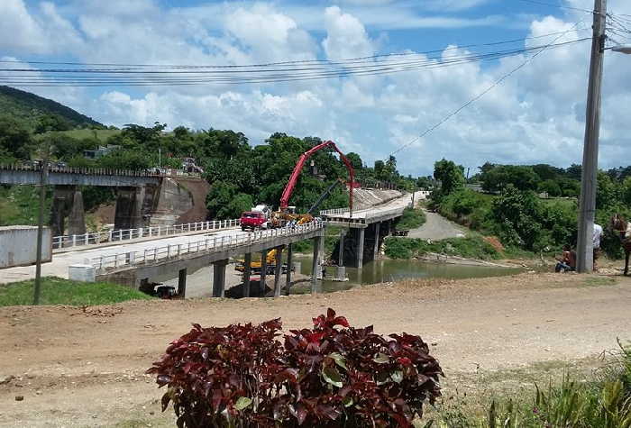
[[[242,65],[428,50],[448,59],[590,37],[591,14],[576,9],[591,7],[592,0],[0,0],[0,59]],[[609,0],[608,8],[631,28],[631,2]],[[628,33],[612,36],[631,43]],[[480,46],[510,40],[518,41]],[[524,54],[300,82],[20,88],[107,125],[232,129],[252,144],[273,132],[316,136],[369,165],[396,152],[399,170],[419,176],[443,158],[473,170],[486,161],[581,163],[589,59],[590,41],[544,50],[496,87]],[[600,168],[631,164],[629,76],[631,56],[608,50]]]

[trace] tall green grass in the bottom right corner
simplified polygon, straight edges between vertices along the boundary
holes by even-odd
[[[490,394],[485,392],[482,399],[459,394],[456,388],[455,394],[445,396],[427,419],[433,421],[431,426],[441,428],[631,426],[631,348],[620,343],[613,358],[590,374],[570,374],[559,367],[545,368],[555,380],[544,385],[528,379],[526,388],[504,392],[495,389]],[[561,376],[554,376],[555,372]],[[417,426],[426,426],[425,421]]]

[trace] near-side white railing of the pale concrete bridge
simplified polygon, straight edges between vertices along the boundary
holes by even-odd
[[[165,245],[161,247],[148,248],[142,251],[128,251],[109,256],[100,256],[90,259],[90,264],[94,266],[97,271],[103,271],[104,269],[117,269],[147,264],[159,260],[176,259],[186,254],[225,250],[227,248],[238,247],[239,245],[268,241],[271,238],[279,236],[299,235],[305,232],[319,230],[323,227],[324,223],[314,221],[297,226],[250,232],[248,234],[216,236],[185,244]]]

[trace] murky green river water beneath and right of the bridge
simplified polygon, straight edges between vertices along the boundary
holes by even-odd
[[[311,275],[311,257],[297,256],[301,262],[300,273]],[[446,263],[427,263],[418,260],[374,260],[364,265],[363,269],[346,268],[346,282],[337,282],[326,277],[334,277],[335,267],[326,268],[326,277],[322,281],[325,292],[339,291],[362,284],[379,284],[381,282],[400,281],[414,278],[484,278],[515,275],[522,269],[497,268],[486,266],[462,266]],[[292,293],[309,291],[309,283],[299,284],[292,288]]]

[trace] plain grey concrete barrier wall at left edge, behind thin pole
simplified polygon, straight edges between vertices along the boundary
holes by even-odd
[[[41,261],[52,260],[52,239],[50,229],[44,227],[42,233]],[[0,227],[0,269],[14,266],[28,266],[37,261],[37,227]]]

